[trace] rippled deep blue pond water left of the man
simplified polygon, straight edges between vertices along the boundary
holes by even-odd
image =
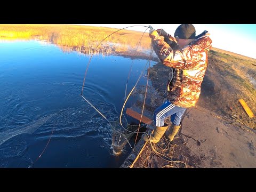
[[[41,41],[0,42],[0,140],[14,135],[0,145],[0,167],[119,167],[123,163],[130,147],[126,145],[118,157],[113,155],[110,125],[81,97],[89,59]],[[119,117],[132,63],[129,92],[147,60],[102,55],[91,60],[83,95],[108,121]],[[146,78],[139,83],[146,85]],[[129,102],[127,107],[134,101]],[[49,115],[53,116],[42,120]],[[36,129],[32,134],[15,135],[31,127]]]

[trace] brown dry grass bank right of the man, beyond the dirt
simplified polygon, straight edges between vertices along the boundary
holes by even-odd
[[[253,113],[256,113],[256,60],[243,55],[211,50],[209,67],[202,85],[206,98],[199,98],[201,106],[256,129],[256,119],[250,118],[239,99],[244,99]]]

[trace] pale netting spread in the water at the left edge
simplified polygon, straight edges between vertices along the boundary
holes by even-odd
[[[12,137],[15,137],[16,135],[19,135],[22,133],[29,133],[29,134],[34,133],[40,126],[42,126],[53,115],[55,115],[55,114],[43,117],[41,119],[38,119],[37,121],[16,127],[11,130],[6,130],[6,131],[0,133],[0,145],[2,145],[5,141],[11,139]]]

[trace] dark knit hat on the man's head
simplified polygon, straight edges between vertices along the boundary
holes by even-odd
[[[196,37],[196,29],[192,24],[182,24],[175,30],[174,37],[181,39],[193,39]]]

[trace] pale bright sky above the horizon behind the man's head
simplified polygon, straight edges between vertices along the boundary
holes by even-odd
[[[111,27],[128,30],[145,31],[146,27],[130,26],[151,26],[154,29],[164,29],[167,33],[174,35],[180,24],[83,24],[87,26]],[[212,38],[212,46],[242,54],[256,59],[256,24],[193,24],[196,28],[196,35],[204,30],[209,31]],[[149,29],[146,31],[149,32]]]

